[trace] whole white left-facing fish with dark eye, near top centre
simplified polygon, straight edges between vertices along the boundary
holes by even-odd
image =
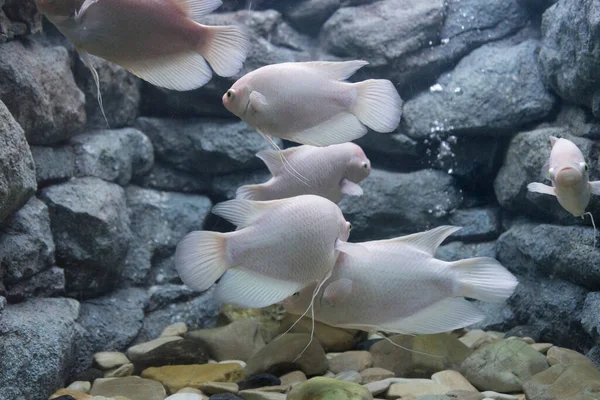
[[[392,132],[402,115],[402,100],[392,82],[343,82],[366,64],[267,65],[235,82],[223,95],[223,104],[263,135],[313,146],[358,139],[367,127]]]

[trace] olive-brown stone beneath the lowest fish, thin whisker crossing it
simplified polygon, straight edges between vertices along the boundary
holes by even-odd
[[[467,346],[448,334],[414,337],[394,335],[390,339],[404,348],[440,356],[434,358],[411,352],[385,340],[375,343],[370,349],[373,366],[387,369],[404,378],[429,378],[433,373],[456,369],[471,354]]]

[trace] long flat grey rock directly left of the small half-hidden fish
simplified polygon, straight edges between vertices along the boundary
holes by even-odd
[[[158,159],[200,176],[257,169],[263,164],[256,153],[270,148],[245,122],[138,118],[137,126]]]

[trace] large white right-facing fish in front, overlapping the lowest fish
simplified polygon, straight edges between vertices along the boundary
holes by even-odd
[[[177,245],[175,266],[183,283],[197,291],[221,278],[216,298],[241,307],[266,307],[323,281],[350,231],[339,207],[314,195],[230,200],[213,213],[237,230],[189,233]]]

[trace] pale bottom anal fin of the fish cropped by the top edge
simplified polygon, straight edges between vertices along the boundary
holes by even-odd
[[[171,90],[197,89],[212,78],[204,57],[192,50],[161,58],[113,62],[154,86]]]

